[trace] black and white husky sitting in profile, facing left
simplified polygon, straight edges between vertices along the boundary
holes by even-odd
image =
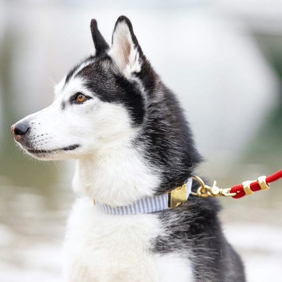
[[[216,200],[190,195],[178,207],[161,207],[160,197],[182,186],[201,157],[131,22],[117,19],[111,47],[95,19],[91,33],[95,54],[59,83],[53,104],[11,127],[35,158],[76,159],[66,280],[245,281]],[[198,186],[194,181],[192,191]],[[158,208],[150,209],[148,199]]]

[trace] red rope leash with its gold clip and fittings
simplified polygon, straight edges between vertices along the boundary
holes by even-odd
[[[269,176],[259,176],[256,180],[244,181],[242,184],[233,186],[232,188],[219,188],[216,186],[216,181],[213,182],[212,186],[206,185],[202,178],[191,175],[191,177],[200,184],[197,192],[191,192],[190,194],[198,197],[218,197],[218,196],[231,196],[235,199],[244,197],[245,195],[251,195],[255,191],[269,189],[269,184],[280,178],[282,178],[282,170]]]

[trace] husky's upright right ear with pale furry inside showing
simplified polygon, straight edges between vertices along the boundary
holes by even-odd
[[[141,70],[145,57],[126,16],[118,17],[115,23],[109,55],[116,69],[126,77]]]

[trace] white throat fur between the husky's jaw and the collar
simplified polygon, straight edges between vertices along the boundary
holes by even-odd
[[[124,145],[78,159],[75,191],[113,207],[152,196],[160,179],[140,155],[132,146]]]

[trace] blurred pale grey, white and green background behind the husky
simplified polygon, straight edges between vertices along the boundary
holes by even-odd
[[[199,175],[231,187],[281,169],[281,1],[0,0],[0,281],[60,281],[74,198],[74,161],[24,156],[10,126],[48,106],[89,54],[91,18],[110,43],[122,14],[186,110],[205,157]],[[281,279],[282,184],[271,186],[219,199],[250,282]]]

